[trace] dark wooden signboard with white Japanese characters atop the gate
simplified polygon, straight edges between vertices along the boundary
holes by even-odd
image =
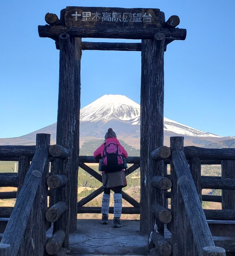
[[[159,9],[109,7],[66,7],[65,24],[70,27],[156,28],[161,27]]]

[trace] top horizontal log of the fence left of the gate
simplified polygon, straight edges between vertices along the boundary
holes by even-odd
[[[33,157],[36,146],[0,146],[0,158],[2,157]]]

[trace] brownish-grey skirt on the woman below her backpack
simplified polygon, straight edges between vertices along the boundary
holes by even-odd
[[[115,173],[103,173],[102,183],[104,188],[114,188],[115,186],[127,186],[127,179],[124,171]]]

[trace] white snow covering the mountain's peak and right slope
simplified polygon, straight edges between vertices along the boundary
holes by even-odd
[[[81,122],[107,123],[112,119],[118,119],[131,125],[140,125],[140,105],[124,95],[103,95],[81,109]],[[203,132],[195,128],[180,124],[164,117],[164,131],[174,132],[178,135],[194,137],[221,137],[209,132]]]

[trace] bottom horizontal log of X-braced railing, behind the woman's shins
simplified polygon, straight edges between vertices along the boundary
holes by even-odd
[[[109,213],[113,213],[114,207],[109,207]],[[77,207],[77,213],[101,213],[101,207]],[[140,214],[136,207],[123,207],[122,214]]]

